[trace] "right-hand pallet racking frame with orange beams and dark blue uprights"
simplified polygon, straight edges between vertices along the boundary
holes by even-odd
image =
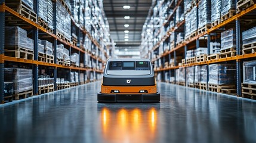
[[[165,1],[162,1],[162,3],[164,3]],[[168,9],[169,8],[172,8],[172,13],[169,14],[167,17],[165,17],[165,20],[167,20],[167,22],[165,22],[161,27],[165,27],[165,28],[169,28],[166,32],[166,34],[164,36],[162,36],[162,38],[160,38],[161,40],[159,40],[156,44],[153,44],[153,47],[149,47],[149,46],[144,46],[143,45],[143,41],[141,43],[141,52],[144,53],[143,51],[147,51],[146,48],[148,48],[148,52],[146,52],[146,54],[144,55],[141,55],[141,57],[143,58],[152,58],[153,57],[153,53],[157,53],[157,57],[155,58],[152,58],[152,61],[155,62],[155,61],[158,61],[157,64],[156,64],[156,73],[162,73],[162,79],[165,79],[165,74],[164,72],[168,72],[169,75],[173,75],[174,74],[174,78],[176,78],[175,76],[175,69],[178,69],[180,67],[184,67],[184,68],[187,68],[187,67],[191,67],[191,66],[198,66],[198,65],[207,65],[209,67],[209,64],[215,64],[215,63],[226,63],[226,62],[229,62],[229,61],[233,61],[236,63],[236,72],[237,72],[237,79],[236,79],[236,85],[237,85],[237,95],[238,97],[240,97],[242,95],[242,92],[241,92],[241,81],[242,81],[242,76],[241,76],[241,72],[242,72],[242,69],[241,69],[241,66],[242,66],[242,62],[244,60],[251,60],[251,59],[255,59],[256,57],[256,53],[255,52],[252,52],[252,53],[249,53],[249,54],[243,54],[242,55],[242,31],[241,31],[241,28],[243,30],[246,29],[246,26],[248,26],[249,24],[246,24],[246,19],[248,20],[248,18],[252,18],[252,16],[255,17],[255,12],[256,12],[256,4],[252,4],[250,7],[244,9],[244,10],[240,10],[239,8],[237,8],[238,11],[237,13],[233,14],[233,15],[230,15],[230,17],[228,18],[224,18],[223,21],[221,21],[220,23],[217,23],[217,24],[214,24],[214,26],[212,27],[209,27],[209,29],[206,29],[205,31],[202,31],[201,33],[198,33],[198,35],[196,36],[192,36],[192,38],[188,39],[188,40],[184,40],[183,42],[181,42],[180,44],[176,44],[176,40],[177,40],[177,37],[176,37],[176,32],[177,31],[182,31],[184,32],[184,29],[185,29],[185,25],[184,25],[184,21],[181,21],[179,23],[175,23],[175,18],[172,18],[174,17],[173,15],[175,15],[175,11],[177,10],[177,7],[183,2],[183,0],[178,0],[177,2],[175,1],[171,1],[171,4],[168,5]],[[194,2],[194,1],[193,1]],[[196,4],[195,4],[195,7],[198,7],[198,2],[199,1],[195,1]],[[236,1],[238,2],[238,1]],[[159,8],[161,7],[161,4],[159,4]],[[155,7],[156,5],[156,1],[153,2],[152,4],[152,8],[150,9],[149,11],[149,15],[148,15],[148,19],[150,19],[150,17],[152,17],[152,14],[153,14],[153,7]],[[159,10],[159,9],[158,9]],[[199,13],[199,11],[198,11]],[[250,17],[251,16],[251,17]],[[252,20],[254,20],[254,18],[252,18]],[[174,21],[174,26],[172,27],[167,27],[166,25],[168,25],[168,23],[170,21]],[[198,21],[197,21],[198,22]],[[241,26],[242,24],[242,26]],[[255,26],[254,23],[251,24],[251,26]],[[175,64],[174,66],[172,67],[159,67],[159,63],[161,63],[161,65],[164,65],[164,63],[166,61],[169,61],[171,60],[171,58],[176,58],[178,55],[180,56],[183,56],[183,57],[186,57],[186,51],[188,49],[196,49],[196,48],[199,48],[200,46],[199,45],[204,45],[206,47],[208,47],[208,55],[209,55],[209,45],[210,45],[210,42],[212,39],[217,39],[219,38],[219,34],[221,31],[223,31],[223,29],[227,30],[228,28],[230,27],[233,27],[235,28],[236,30],[236,55],[231,55],[230,57],[224,57],[224,58],[210,58],[209,60],[206,60],[206,61],[199,61],[199,62],[195,62],[195,63],[185,63],[185,64],[179,64],[176,63],[175,61]],[[164,44],[166,46],[168,46],[168,43],[170,41],[170,36],[171,36],[171,33],[174,33],[174,48],[171,48],[171,46],[169,46],[168,50],[163,52],[162,54],[159,54],[159,47],[161,44]],[[202,40],[204,39],[204,40]],[[146,41],[146,42],[150,42],[150,41]],[[163,51],[164,51],[164,46],[161,47],[163,48]],[[185,76],[186,76],[186,70],[185,70]],[[185,77],[186,79],[186,77]],[[209,69],[208,69],[208,74],[207,74],[207,80],[209,79]],[[176,82],[175,82],[176,83]],[[176,83],[176,84],[179,84],[179,83]],[[183,84],[184,85],[184,84]],[[186,81],[185,81],[185,86],[186,86]],[[189,85],[187,85],[189,86]],[[207,85],[207,88],[208,89],[208,85]],[[233,93],[232,93],[233,94]]]

